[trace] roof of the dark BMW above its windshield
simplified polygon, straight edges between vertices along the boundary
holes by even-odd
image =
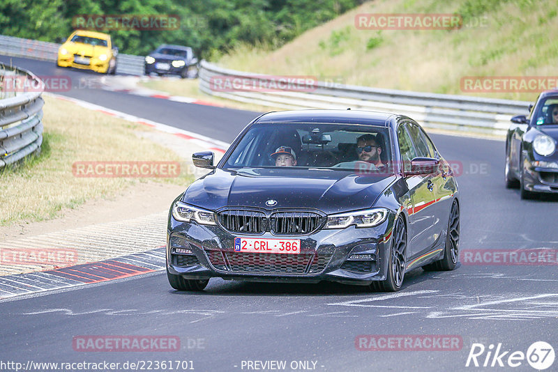
[[[361,110],[293,110],[274,111],[260,116],[255,124],[263,123],[344,123],[389,126],[395,114]]]

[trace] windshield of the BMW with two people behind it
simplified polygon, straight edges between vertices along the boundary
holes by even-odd
[[[281,167],[385,171],[391,162],[385,127],[329,123],[254,125],[223,163],[225,169]]]

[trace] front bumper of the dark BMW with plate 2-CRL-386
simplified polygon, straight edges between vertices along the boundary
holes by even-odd
[[[337,281],[370,284],[386,279],[386,257],[391,244],[393,216],[375,228],[319,230],[311,235],[292,235],[301,240],[300,254],[266,254],[234,251],[234,238],[255,238],[225,231],[219,226],[176,222],[171,216],[167,230],[167,269],[186,279],[241,279],[246,281]],[[279,238],[267,232],[257,238]],[[192,254],[175,254],[186,248]],[[371,259],[350,259],[367,254]],[[363,256],[359,256],[363,258]]]

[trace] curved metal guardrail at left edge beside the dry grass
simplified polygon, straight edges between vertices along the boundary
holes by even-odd
[[[29,79],[29,82],[26,80]],[[33,87],[31,92],[17,86]],[[43,82],[27,70],[0,63],[0,168],[40,151]]]

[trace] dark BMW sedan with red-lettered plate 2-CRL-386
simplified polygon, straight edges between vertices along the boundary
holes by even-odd
[[[458,262],[458,185],[406,116],[264,114],[217,166],[209,152],[193,161],[212,171],[169,212],[167,277],[177,290],[221,277],[393,291],[409,270]]]

